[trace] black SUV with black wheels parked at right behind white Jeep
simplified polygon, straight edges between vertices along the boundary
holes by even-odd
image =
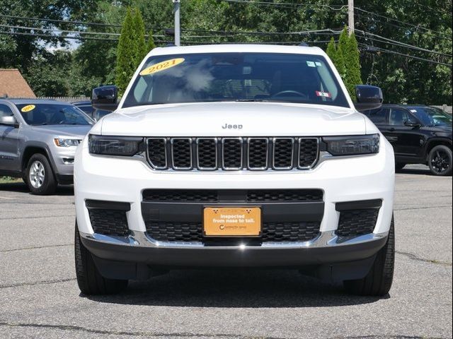
[[[382,105],[364,113],[394,146],[396,170],[425,164],[432,174],[452,174],[450,114],[424,105]]]

